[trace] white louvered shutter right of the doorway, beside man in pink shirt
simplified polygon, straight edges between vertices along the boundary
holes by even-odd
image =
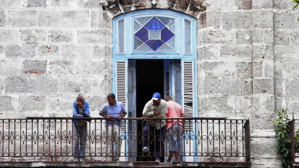
[[[193,62],[183,62],[183,107],[186,117],[193,117]],[[192,120],[186,120],[185,130],[193,131]]]

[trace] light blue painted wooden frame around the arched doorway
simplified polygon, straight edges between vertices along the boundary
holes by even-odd
[[[131,50],[133,49],[133,34],[134,31],[134,21],[133,19],[137,16],[148,16],[148,15],[158,15],[158,16],[166,16],[166,17],[177,17],[178,22],[176,23],[176,33],[175,36],[178,35],[178,40],[175,44],[175,52],[138,52],[132,53]],[[118,54],[117,53],[117,21],[120,19],[125,19],[125,54]],[[184,19],[191,20],[191,54],[184,55]],[[165,9],[146,9],[146,10],[137,10],[128,12],[122,15],[119,15],[113,18],[113,84],[112,84],[112,91],[116,92],[116,62],[117,61],[128,61],[128,59],[181,59],[181,63],[183,61],[192,61],[194,65],[193,73],[194,73],[194,82],[193,82],[193,97],[194,97],[194,105],[193,105],[193,116],[198,116],[198,103],[197,103],[197,26],[196,26],[196,18],[176,12],[171,10]],[[133,26],[133,28],[132,28]],[[178,29],[178,26],[180,28]],[[178,32],[177,32],[178,31]],[[177,43],[178,42],[178,43]],[[177,46],[178,45],[178,46]],[[183,71],[181,71],[183,72]],[[127,70],[126,70],[127,74]],[[182,74],[183,75],[183,74]],[[127,77],[126,77],[127,81]],[[183,84],[183,78],[182,78]],[[183,87],[183,86],[182,86]],[[182,96],[183,98],[183,96]],[[183,102],[183,101],[182,101]],[[127,116],[126,116],[127,117]],[[195,128],[195,127],[194,127]],[[195,130],[196,131],[196,130]],[[191,135],[192,136],[192,135]],[[126,151],[128,151],[128,146],[126,143]],[[193,141],[193,151],[198,151],[198,145],[196,140]],[[127,160],[127,158],[126,158]],[[198,161],[197,157],[193,157],[193,161]]]

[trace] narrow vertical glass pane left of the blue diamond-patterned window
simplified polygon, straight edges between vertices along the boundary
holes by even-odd
[[[117,48],[118,54],[125,54],[125,19],[117,21]]]

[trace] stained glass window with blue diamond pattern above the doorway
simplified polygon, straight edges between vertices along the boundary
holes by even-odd
[[[134,19],[134,51],[175,51],[175,19],[161,16]]]

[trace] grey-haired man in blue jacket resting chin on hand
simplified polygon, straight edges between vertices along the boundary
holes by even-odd
[[[73,117],[90,117],[89,104],[84,101],[84,95],[79,93],[73,102]],[[87,120],[73,120],[74,149],[73,154],[75,161],[84,160],[86,138],[87,138]],[[80,141],[79,141],[80,140]],[[80,149],[79,149],[80,144]]]

